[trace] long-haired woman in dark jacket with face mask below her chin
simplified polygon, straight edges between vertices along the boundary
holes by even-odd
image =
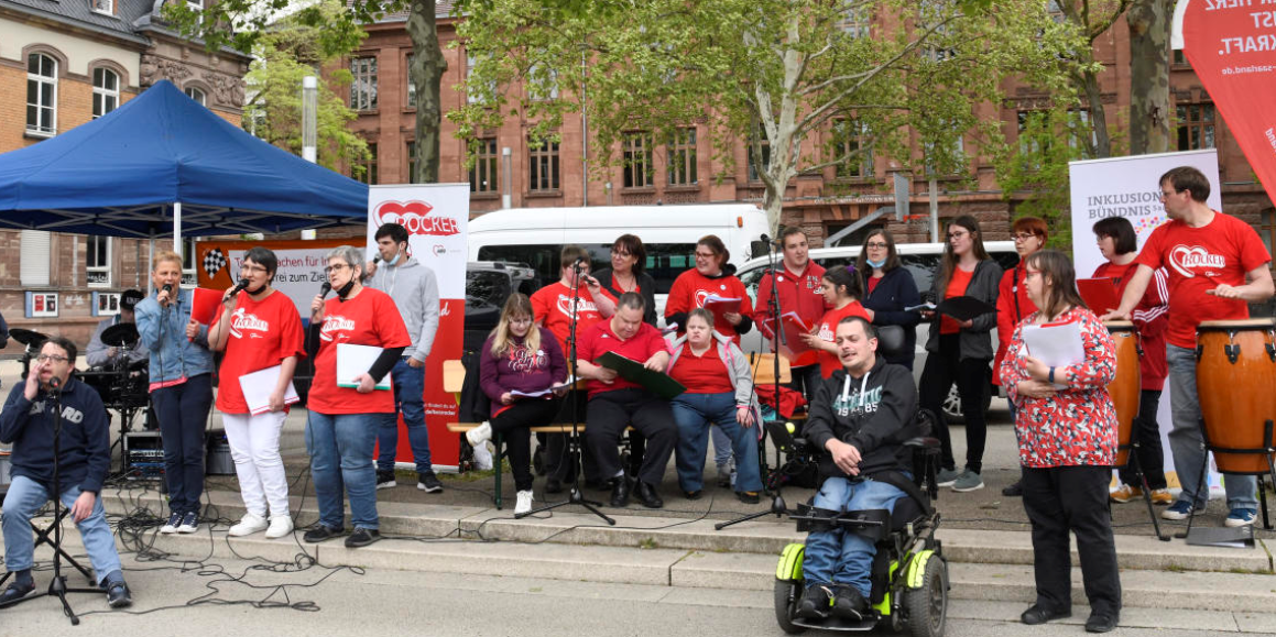
[[[902,364],[912,369],[914,353],[917,349],[917,324],[921,315],[905,312],[905,307],[921,303],[917,282],[906,268],[901,268],[900,254],[894,248],[894,237],[883,228],[869,232],[855,261],[855,269],[864,282],[864,313],[873,325],[898,325],[903,327],[903,349],[887,357],[888,363]]]

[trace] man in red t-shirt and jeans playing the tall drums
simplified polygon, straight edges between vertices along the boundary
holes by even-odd
[[[1235,217],[1206,205],[1210,181],[1182,166],[1161,176],[1161,201],[1169,223],[1152,231],[1136,262],[1120,307],[1104,316],[1129,320],[1152,273],[1170,274],[1170,326],[1165,358],[1170,368],[1170,452],[1183,492],[1161,513],[1183,520],[1208,503],[1208,485],[1198,484],[1206,461],[1201,436],[1201,401],[1196,382],[1196,329],[1202,321],[1249,317],[1247,303],[1272,297],[1271,255],[1258,233]],[[1245,283],[1245,280],[1249,283]],[[1254,524],[1257,483],[1252,475],[1228,475],[1228,526]]]

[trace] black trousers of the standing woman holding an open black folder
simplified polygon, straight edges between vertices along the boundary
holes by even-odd
[[[944,399],[948,389],[957,383],[961,395],[961,413],[966,418],[966,469],[983,473],[984,446],[988,442],[988,419],[984,414],[984,397],[989,391],[988,359],[961,359],[958,334],[939,335],[939,352],[926,355],[926,366],[921,368],[921,387],[919,394],[921,408],[929,409],[939,419],[940,464],[943,469],[956,469],[953,457],[952,432],[944,418]]]

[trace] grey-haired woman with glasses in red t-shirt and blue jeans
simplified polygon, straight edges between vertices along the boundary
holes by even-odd
[[[328,252],[327,261],[324,270],[337,296],[324,301],[315,294],[310,302],[310,321],[318,322],[320,329],[315,377],[306,405],[310,409],[306,451],[310,454],[319,522],[302,539],[324,541],[345,533],[345,490],[353,524],[346,547],[359,548],[382,536],[373,451],[383,414],[394,412],[394,392],[376,389],[376,383],[390,373],[403,349],[412,344],[412,338],[394,299],[360,283],[364,276],[361,250],[339,246]],[[338,377],[338,367],[350,367],[348,358],[339,359],[338,344],[380,352],[374,353],[375,358],[366,368],[343,372]],[[343,355],[353,352],[346,349]],[[343,362],[346,364],[341,364]]]

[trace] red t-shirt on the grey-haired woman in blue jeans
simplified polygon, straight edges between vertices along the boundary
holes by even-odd
[[[389,294],[364,288],[346,301],[329,298],[324,303],[315,378],[308,405],[320,414],[384,414],[394,412],[394,392],[373,390],[360,394],[353,387],[337,386],[337,344],[406,348],[412,344],[403,317]]]

